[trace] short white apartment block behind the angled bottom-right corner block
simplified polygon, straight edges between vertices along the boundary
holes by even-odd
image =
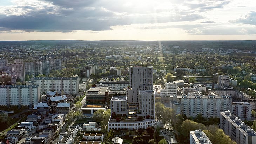
[[[242,121],[251,120],[251,104],[248,102],[233,102],[231,107],[232,114]]]

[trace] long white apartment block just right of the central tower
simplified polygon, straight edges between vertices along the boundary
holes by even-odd
[[[220,117],[220,112],[231,109],[231,95],[203,95],[201,92],[188,93],[188,95],[170,96],[171,108],[177,114],[196,117]]]

